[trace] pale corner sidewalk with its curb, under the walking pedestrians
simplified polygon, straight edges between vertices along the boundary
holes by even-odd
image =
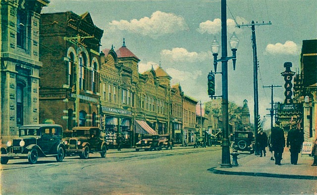
[[[297,165],[291,164],[290,152],[288,148],[284,149],[282,156],[282,165],[276,165],[274,160],[270,160],[270,153],[265,157],[256,155],[239,155],[238,166],[232,168],[211,168],[210,171],[216,174],[231,175],[250,175],[264,177],[279,177],[293,179],[312,179],[317,180],[317,166],[311,166],[313,157],[299,154]],[[231,162],[232,162],[232,156]]]

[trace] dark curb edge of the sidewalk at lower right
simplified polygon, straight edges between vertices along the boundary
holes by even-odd
[[[258,176],[258,177],[317,180],[317,176],[310,176],[310,175],[287,175],[287,174],[274,174],[274,173],[224,171],[224,170],[217,169],[217,167],[212,167],[208,170],[215,174],[223,174],[223,175],[246,175],[246,176]]]

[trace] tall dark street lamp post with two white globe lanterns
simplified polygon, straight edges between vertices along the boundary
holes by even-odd
[[[236,66],[236,52],[239,44],[239,40],[236,35],[233,34],[230,39],[230,46],[232,56],[227,56],[227,10],[226,0],[221,0],[221,58],[217,60],[219,43],[214,39],[211,44],[211,52],[213,55],[213,66],[216,72],[217,63],[221,62],[221,74],[222,74],[222,158],[221,167],[232,167],[230,161],[230,140],[229,140],[229,117],[228,117],[228,60],[233,62],[233,70]]]

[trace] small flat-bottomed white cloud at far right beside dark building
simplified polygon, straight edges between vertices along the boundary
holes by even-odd
[[[265,52],[272,55],[298,55],[300,54],[300,47],[293,41],[287,40],[284,44],[268,44]]]

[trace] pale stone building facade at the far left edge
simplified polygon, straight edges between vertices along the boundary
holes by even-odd
[[[18,135],[18,127],[39,123],[39,30],[49,0],[1,0],[0,128],[1,140]]]

